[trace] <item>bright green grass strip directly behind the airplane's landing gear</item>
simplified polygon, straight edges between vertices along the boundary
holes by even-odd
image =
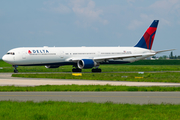
[[[130,72],[130,71],[180,71],[180,65],[101,65],[102,72]],[[3,67],[0,72],[13,72],[13,67]],[[71,72],[72,66],[60,66],[47,69],[44,66],[19,66],[21,72]],[[82,72],[91,72],[91,69],[83,69]]]

